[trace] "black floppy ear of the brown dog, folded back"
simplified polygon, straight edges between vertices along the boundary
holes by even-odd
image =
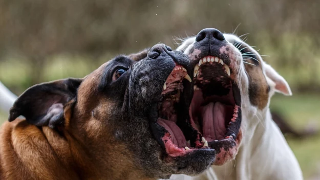
[[[68,78],[28,88],[11,107],[9,121],[24,116],[27,122],[36,126],[54,128],[61,125],[65,120],[65,109],[70,109],[76,101],[81,82],[82,79]]]

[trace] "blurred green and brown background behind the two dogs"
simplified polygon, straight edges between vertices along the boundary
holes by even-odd
[[[0,1],[0,81],[16,95],[29,86],[84,77],[118,54],[213,27],[246,35],[268,55],[293,96],[271,109],[297,130],[319,127],[320,1]],[[179,42],[179,41],[178,41]],[[7,112],[0,112],[5,121]],[[1,122],[3,122],[1,121]],[[320,136],[287,137],[306,179],[320,179]]]

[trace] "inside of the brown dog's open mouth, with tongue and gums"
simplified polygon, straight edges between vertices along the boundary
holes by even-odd
[[[163,85],[163,91],[158,102],[159,118],[157,123],[165,129],[161,139],[165,151],[172,157],[184,155],[195,149],[209,148],[199,141],[200,134],[190,126],[187,120],[182,123],[178,122],[177,109],[180,106],[179,102],[184,90],[182,83],[184,79],[189,81],[188,83],[191,82],[186,69],[181,65],[176,65]],[[189,125],[188,128],[185,128],[186,124]],[[197,147],[195,147],[195,144],[197,144]],[[194,147],[191,145],[194,145]]]

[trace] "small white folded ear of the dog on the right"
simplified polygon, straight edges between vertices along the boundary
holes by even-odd
[[[291,89],[287,81],[280,76],[269,64],[264,64],[267,77],[274,82],[275,92],[291,96]]]

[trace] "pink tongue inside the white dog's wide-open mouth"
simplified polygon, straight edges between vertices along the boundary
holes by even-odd
[[[203,136],[210,142],[224,138],[226,108],[220,102],[209,103],[202,108]]]

